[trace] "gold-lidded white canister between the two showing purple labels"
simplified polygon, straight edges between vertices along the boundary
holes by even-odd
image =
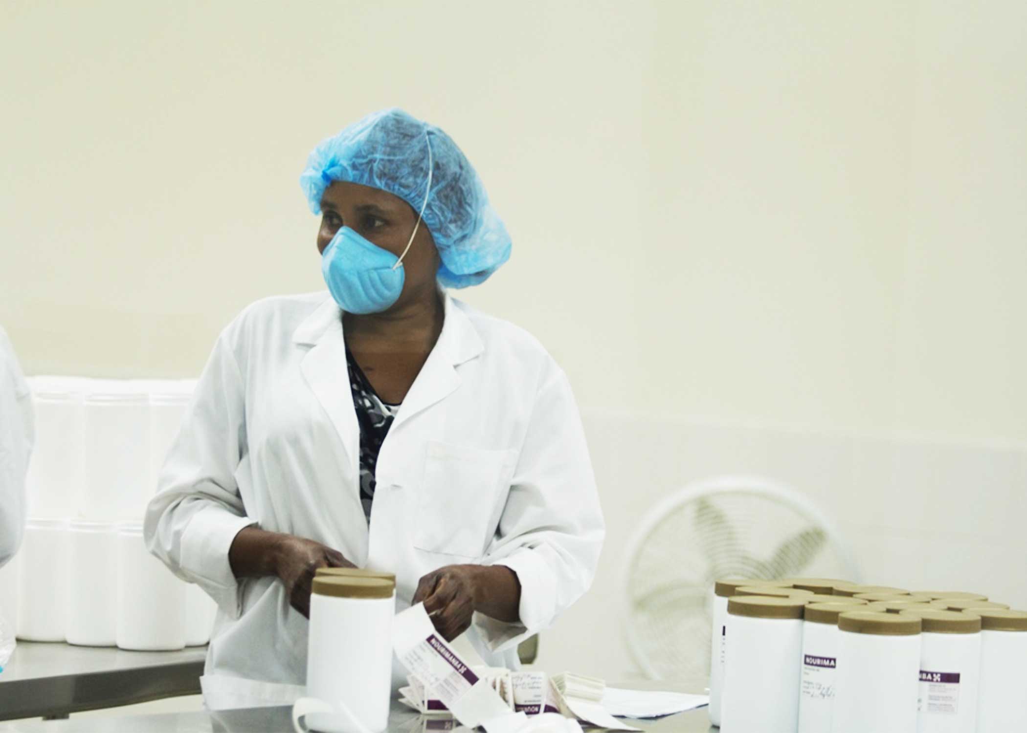
[[[854,611],[838,617],[834,733],[914,733],[920,619]]]

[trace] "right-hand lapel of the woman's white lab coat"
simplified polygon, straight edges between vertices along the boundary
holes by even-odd
[[[410,392],[403,400],[392,430],[445,399],[460,386],[457,366],[474,358],[484,350],[482,339],[467,315],[446,296],[446,314],[443,331],[435,347],[428,354]]]

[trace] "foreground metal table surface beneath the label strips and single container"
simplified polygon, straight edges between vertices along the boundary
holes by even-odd
[[[618,685],[636,689],[680,689],[667,683]],[[124,716],[121,718],[81,718],[64,721],[17,721],[0,724],[0,733],[269,733],[293,730],[292,708],[251,707],[240,710],[217,712],[165,712],[154,716]],[[707,708],[689,710],[651,721],[627,721],[648,733],[707,733],[717,729],[710,726]],[[436,730],[468,731],[467,728],[449,728],[446,722],[432,720],[414,712],[398,700],[392,700],[388,733],[428,733]],[[601,728],[588,728],[604,731]]]

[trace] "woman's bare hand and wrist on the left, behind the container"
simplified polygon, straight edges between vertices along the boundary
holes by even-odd
[[[228,549],[236,578],[273,575],[286,586],[289,604],[310,618],[310,589],[318,568],[353,568],[339,550],[303,537],[245,527]]]

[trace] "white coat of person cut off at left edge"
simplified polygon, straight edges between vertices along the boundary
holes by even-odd
[[[29,385],[0,327],[0,568],[14,556],[25,535],[25,473],[34,427]]]

